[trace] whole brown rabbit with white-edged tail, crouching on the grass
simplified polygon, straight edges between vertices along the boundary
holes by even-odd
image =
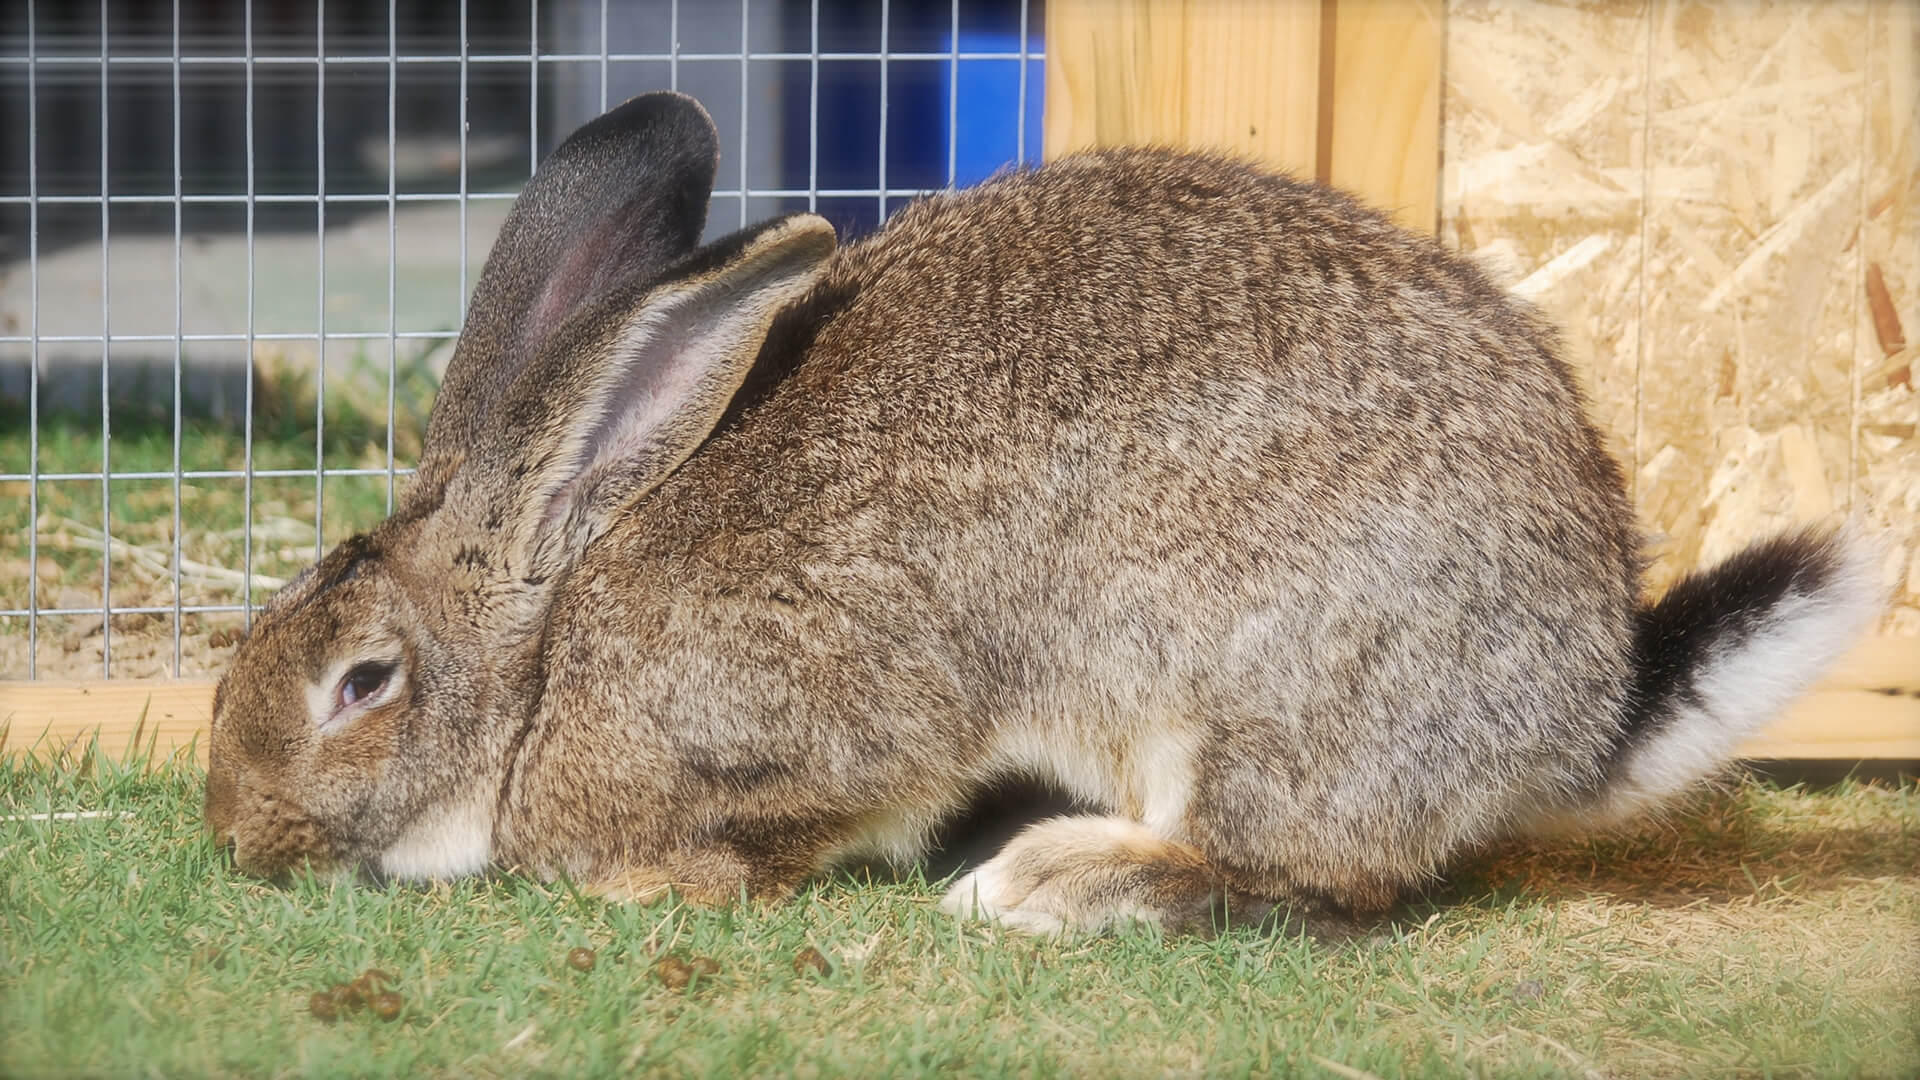
[[[1008,776],[950,907],[1365,915],[1709,774],[1880,605],[1847,534],[1640,601],[1553,334],[1352,200],[1154,150],[695,248],[687,98],[520,194],[394,517],[215,701],[238,865],[780,897]]]

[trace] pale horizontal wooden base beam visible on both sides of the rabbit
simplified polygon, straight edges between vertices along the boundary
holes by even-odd
[[[165,759],[192,746],[207,761],[213,682],[0,682],[0,755],[132,748]],[[1920,638],[1868,638],[1832,678],[1741,748],[1755,759],[1920,761]]]

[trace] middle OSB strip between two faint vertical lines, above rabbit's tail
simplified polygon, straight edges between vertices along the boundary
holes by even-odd
[[[1638,498],[1653,584],[1849,505],[1868,12],[1657,0]]]

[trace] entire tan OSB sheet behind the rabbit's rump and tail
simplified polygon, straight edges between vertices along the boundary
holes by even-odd
[[[1442,234],[1565,327],[1653,588],[1853,515],[1920,634],[1914,8],[1453,0],[1446,33]]]

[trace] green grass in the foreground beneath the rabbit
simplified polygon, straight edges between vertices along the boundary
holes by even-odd
[[[495,878],[236,876],[202,774],[0,765],[0,1072],[1914,1076],[1920,792],[1749,782],[1636,832],[1471,861],[1377,934],[1046,942],[937,886],[768,909]],[[589,972],[566,951],[597,951]],[[797,974],[803,947],[828,976]],[[662,953],[718,976],[662,986]],[[405,1015],[323,1022],[367,967]]]

